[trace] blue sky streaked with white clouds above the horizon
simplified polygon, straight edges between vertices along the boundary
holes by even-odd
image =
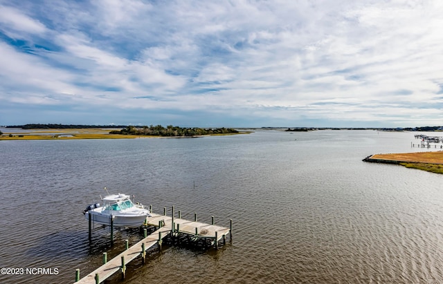
[[[440,0],[0,0],[0,125],[443,125]]]

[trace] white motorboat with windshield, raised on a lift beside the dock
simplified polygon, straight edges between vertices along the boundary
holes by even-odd
[[[143,205],[132,202],[131,197],[125,194],[114,194],[103,198],[103,205],[94,203],[88,205],[83,211],[84,218],[102,224],[111,225],[111,218],[114,218],[114,227],[140,227],[145,222],[146,217],[150,217],[150,211]]]

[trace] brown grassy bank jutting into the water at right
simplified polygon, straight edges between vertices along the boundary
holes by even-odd
[[[413,169],[443,173],[443,151],[418,153],[391,153],[370,155],[363,159],[365,162],[384,164],[400,164]]]

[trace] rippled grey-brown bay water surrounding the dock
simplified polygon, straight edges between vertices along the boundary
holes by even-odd
[[[157,213],[174,205],[183,218],[234,224],[218,251],[163,247],[107,283],[442,283],[443,176],[361,162],[425,151],[410,148],[414,134],[0,141],[0,266],[58,270],[0,283],[71,283],[76,268],[84,276],[102,252],[136,243],[122,231],[110,247],[107,229],[89,243],[82,210],[103,187]]]

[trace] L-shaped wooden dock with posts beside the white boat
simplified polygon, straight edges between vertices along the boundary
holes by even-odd
[[[141,256],[143,263],[145,263],[147,249],[150,249],[156,244],[161,247],[163,238],[168,235],[179,236],[179,234],[187,234],[188,236],[192,236],[194,240],[210,238],[213,239],[211,244],[218,249],[219,240],[223,239],[224,243],[226,243],[226,235],[232,234],[232,220],[230,220],[230,227],[228,228],[215,225],[214,217],[212,217],[211,224],[197,222],[197,214],[194,215],[194,221],[181,219],[180,211],[179,218],[174,218],[174,207],[172,207],[172,216],[166,216],[166,208],[163,211],[163,215],[154,213],[151,213],[151,215],[151,217],[146,218],[143,226],[158,227],[156,231],[146,236],[147,233],[145,229],[145,237],[143,240],[132,245],[132,247],[128,247],[128,243],[126,242],[125,251],[112,258],[111,261],[107,261],[106,253],[104,253],[103,265],[81,279],[80,270],[77,269],[75,272],[75,283],[102,283],[102,281],[105,281],[119,271],[122,273],[122,278],[125,278],[126,264],[138,256]]]

